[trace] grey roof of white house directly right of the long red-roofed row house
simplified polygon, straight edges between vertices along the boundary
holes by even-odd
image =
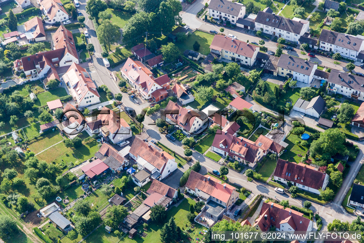
[[[279,58],[277,66],[280,68],[286,68],[294,72],[310,75],[316,63],[306,61],[295,56],[282,54]],[[317,65],[317,64],[316,64]]]

